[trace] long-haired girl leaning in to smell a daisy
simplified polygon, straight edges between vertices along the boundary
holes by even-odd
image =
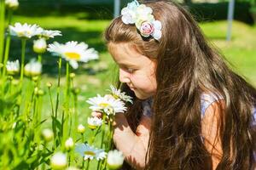
[[[121,88],[113,140],[136,169],[253,169],[256,90],[176,3],[137,1],[105,33]]]

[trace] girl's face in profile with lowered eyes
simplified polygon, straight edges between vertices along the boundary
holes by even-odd
[[[119,81],[126,83],[138,99],[148,99],[156,90],[155,62],[139,54],[131,43],[108,44],[110,54],[119,65]]]

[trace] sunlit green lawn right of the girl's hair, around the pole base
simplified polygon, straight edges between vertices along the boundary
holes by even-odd
[[[256,26],[247,26],[235,21],[232,39],[226,42],[227,22],[201,24],[207,38],[224,54],[234,71],[256,86]]]

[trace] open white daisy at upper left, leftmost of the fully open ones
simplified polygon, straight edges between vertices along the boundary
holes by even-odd
[[[31,38],[38,35],[39,27],[37,25],[21,25],[19,22],[15,26],[9,26],[10,34],[17,37]]]

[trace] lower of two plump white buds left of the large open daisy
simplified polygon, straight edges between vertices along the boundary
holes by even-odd
[[[25,75],[28,77],[38,76],[42,72],[42,64],[35,59],[31,59],[24,67]]]

